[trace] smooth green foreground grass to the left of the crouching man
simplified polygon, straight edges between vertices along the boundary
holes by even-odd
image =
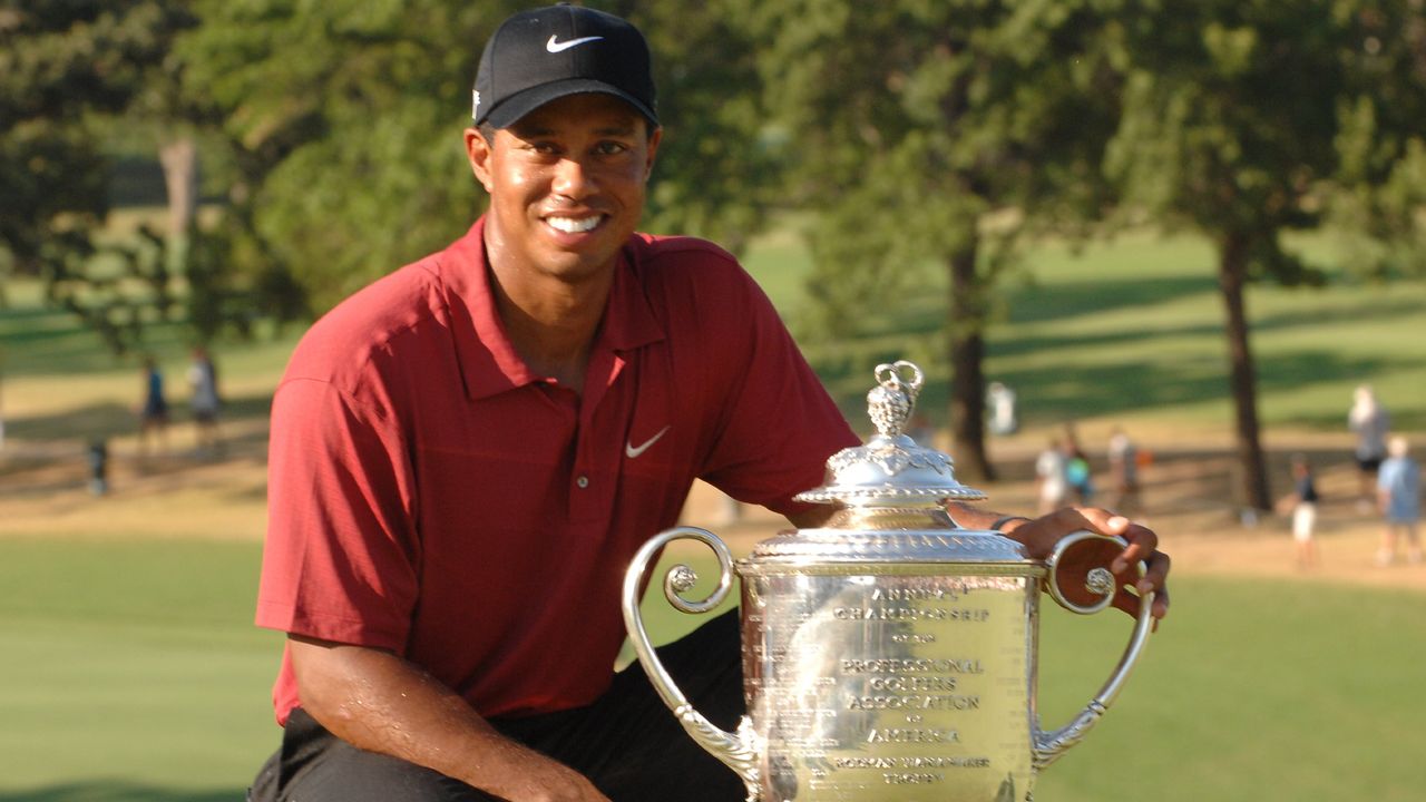
[[[0,538],[0,799],[241,799],[278,732],[260,551]]]

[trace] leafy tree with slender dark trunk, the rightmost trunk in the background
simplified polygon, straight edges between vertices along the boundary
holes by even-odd
[[[1216,247],[1239,501],[1271,509],[1245,291],[1322,281],[1282,234],[1319,224],[1340,166],[1349,26],[1326,3],[1285,13],[1268,0],[1184,4],[1174,24],[1137,3],[1122,19],[1124,117],[1108,170],[1135,208]]]

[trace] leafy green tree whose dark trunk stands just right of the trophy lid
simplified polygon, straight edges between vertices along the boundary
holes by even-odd
[[[941,265],[954,452],[967,475],[992,478],[983,361],[994,288],[1022,234],[1074,227],[1107,203],[1112,3],[736,6],[786,140],[784,197],[816,214],[810,291],[824,320],[846,327],[903,303],[911,265]]]

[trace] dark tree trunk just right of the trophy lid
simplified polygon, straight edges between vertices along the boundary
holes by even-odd
[[[975,274],[975,240],[951,255],[951,457],[958,479],[995,481],[985,457],[985,304]]]

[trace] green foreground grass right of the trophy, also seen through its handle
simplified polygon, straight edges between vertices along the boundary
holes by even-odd
[[[1119,702],[1037,799],[1420,799],[1419,595],[1198,578],[1174,589]],[[1098,686],[1128,622],[1097,619],[1081,642],[1087,622],[1047,618],[1042,686],[1062,711]]]

